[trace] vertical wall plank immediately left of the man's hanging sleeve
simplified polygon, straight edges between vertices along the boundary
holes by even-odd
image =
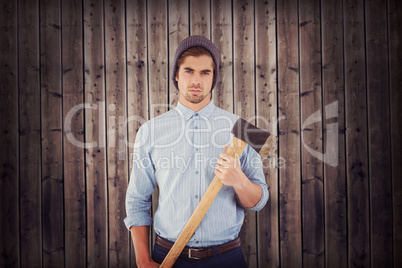
[[[127,267],[129,235],[124,225],[128,186],[127,87],[123,0],[105,1],[106,125],[109,210],[109,266]]]

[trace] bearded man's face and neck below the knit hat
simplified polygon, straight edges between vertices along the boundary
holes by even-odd
[[[200,110],[211,100],[210,92],[214,77],[213,59],[207,55],[188,56],[180,65],[176,75],[180,102]]]

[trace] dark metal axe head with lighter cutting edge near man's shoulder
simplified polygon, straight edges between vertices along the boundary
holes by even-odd
[[[232,133],[236,138],[251,146],[262,158],[270,155],[276,148],[276,136],[259,129],[242,118],[236,121]]]

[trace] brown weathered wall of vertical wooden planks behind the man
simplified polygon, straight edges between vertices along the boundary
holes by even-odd
[[[249,267],[402,267],[400,1],[0,3],[1,267],[136,266],[133,141],[190,34],[221,51],[215,104],[279,137]]]

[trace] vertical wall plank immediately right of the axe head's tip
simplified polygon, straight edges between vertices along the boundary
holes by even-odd
[[[302,266],[300,107],[297,1],[277,2],[280,253],[284,267]]]

